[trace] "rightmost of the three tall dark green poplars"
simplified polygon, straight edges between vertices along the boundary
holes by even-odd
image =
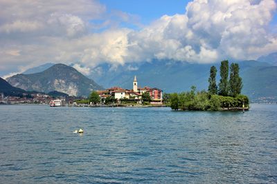
[[[235,97],[242,91],[242,78],[240,77],[240,66],[232,63],[230,66],[230,95]]]

